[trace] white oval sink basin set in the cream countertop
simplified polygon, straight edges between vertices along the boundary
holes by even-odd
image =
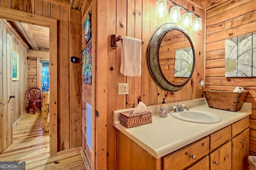
[[[190,121],[194,123],[218,123],[221,122],[221,118],[218,115],[200,111],[182,111],[171,112],[171,115],[177,119]]]

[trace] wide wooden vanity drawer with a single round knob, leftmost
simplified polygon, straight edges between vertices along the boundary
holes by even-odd
[[[163,157],[163,170],[182,170],[208,154],[210,137],[205,137],[184,149]],[[194,158],[194,159],[193,159]]]

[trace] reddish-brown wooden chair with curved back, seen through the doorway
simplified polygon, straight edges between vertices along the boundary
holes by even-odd
[[[30,87],[27,90],[27,96],[28,96],[28,107],[27,107],[27,113],[29,113],[29,109],[33,108],[33,114],[36,114],[36,107],[40,108],[42,107],[42,90],[38,87]]]

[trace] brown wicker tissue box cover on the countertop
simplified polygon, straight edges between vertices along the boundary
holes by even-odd
[[[136,127],[152,123],[152,111],[143,111],[141,113],[132,113],[133,111],[120,112],[120,123],[124,127]]]

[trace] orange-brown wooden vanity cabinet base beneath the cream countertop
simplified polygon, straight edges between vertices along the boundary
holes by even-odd
[[[116,170],[248,170],[248,127],[249,116],[157,159],[117,130]]]

